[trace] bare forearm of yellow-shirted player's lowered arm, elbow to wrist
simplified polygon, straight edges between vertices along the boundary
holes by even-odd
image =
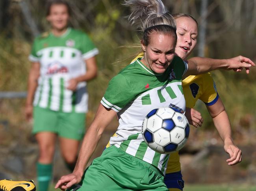
[[[221,136],[224,144],[233,142],[231,125],[225,110],[213,118],[213,123],[219,132],[219,135]]]

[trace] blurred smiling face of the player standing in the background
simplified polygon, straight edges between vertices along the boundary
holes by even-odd
[[[47,16],[52,29],[63,30],[69,21],[68,8],[64,4],[53,4],[50,7],[50,14]]]

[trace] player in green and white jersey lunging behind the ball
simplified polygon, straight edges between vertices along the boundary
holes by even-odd
[[[138,24],[143,31],[144,58],[128,65],[111,79],[95,119],[85,134],[73,173],[62,176],[55,188],[67,189],[80,182],[72,188],[80,187],[81,191],[168,191],[163,175],[169,155],[153,151],[143,141],[143,119],[152,109],[168,107],[170,103],[185,110],[185,98],[180,89],[184,74],[250,66],[242,62],[228,64],[225,60],[209,65],[195,62],[187,65],[174,56],[176,23],[161,0],[125,0],[124,4],[132,8],[132,24]],[[84,172],[100,136],[116,114],[119,127],[110,138],[111,146]]]

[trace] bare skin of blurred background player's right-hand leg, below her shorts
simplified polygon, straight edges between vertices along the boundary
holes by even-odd
[[[73,171],[76,165],[79,141],[70,138],[59,137],[59,144],[61,154],[66,162],[68,169]]]

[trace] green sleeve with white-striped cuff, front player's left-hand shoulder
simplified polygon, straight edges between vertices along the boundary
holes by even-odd
[[[122,74],[118,74],[110,80],[100,103],[109,109],[119,112],[134,98],[135,95],[128,80]]]

